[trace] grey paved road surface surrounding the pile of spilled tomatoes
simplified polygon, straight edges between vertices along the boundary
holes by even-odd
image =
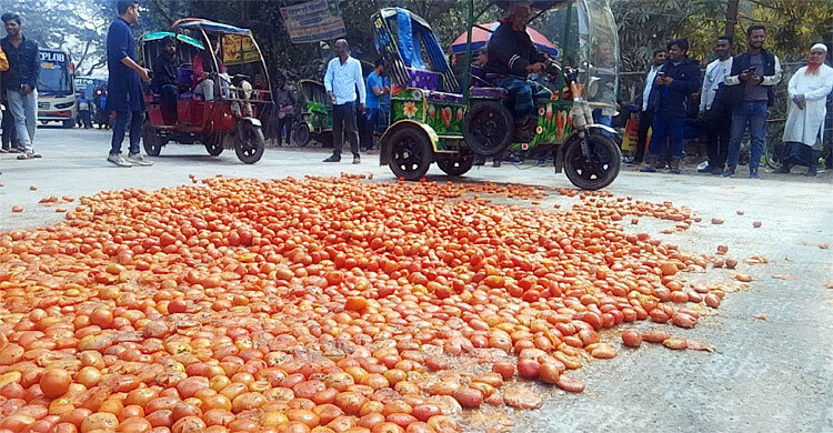
[[[373,173],[392,180],[375,155],[361,165],[347,162],[324,165],[321,150],[268,149],[255,165],[244,165],[233,152],[208,157],[199,145],[171,145],[154,159],[152,168],[117,169],[107,164],[109,133],[41,129],[39,151],[43,159],[13,161],[0,155],[0,231],[57,223],[60,215],[37,204],[46,195],[84,195],[129,187],[158,189],[215,174],[284,178],[339,172]],[[432,168],[435,179],[446,178]],[[661,346],[622,350],[611,361],[589,362],[576,374],[588,391],[568,395],[541,387],[548,395],[535,412],[510,413],[518,432],[833,432],[833,250],[804,243],[833,243],[833,189],[831,174],[806,182],[801,175],[724,180],[703,175],[672,177],[624,172],[611,185],[618,195],[639,200],[672,201],[703,216],[685,233],[659,235],[668,222],[643,219],[649,230],[689,251],[715,251],[730,246],[732,256],[761,254],[767,265],[741,264],[757,281],[749,291],[730,293],[719,314],[701,319],[693,330],[674,334],[709,342],[714,353],[673,352]],[[571,187],[563,175],[543,168],[490,167],[473,170],[472,181],[513,182],[544,188]],[[37,191],[30,191],[37,185]],[[569,203],[554,193],[542,205]],[[26,212],[12,214],[13,204]],[[745,215],[735,214],[737,209]],[[726,222],[711,225],[711,216]],[[763,222],[752,229],[751,222]],[[797,280],[772,279],[790,274]],[[730,272],[710,270],[692,275],[710,281],[729,280]],[[765,320],[755,315],[765,314]],[[648,323],[641,328],[650,328]],[[614,341],[615,335],[608,335]],[[619,346],[619,342],[614,341]],[[505,411],[502,409],[501,411]],[[488,413],[498,420],[504,413]],[[482,425],[482,424],[481,424]],[[475,429],[478,430],[478,429]]]

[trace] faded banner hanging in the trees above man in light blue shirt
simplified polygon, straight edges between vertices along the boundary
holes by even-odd
[[[325,0],[281,8],[292,43],[317,42],[347,36],[344,20],[333,14]]]

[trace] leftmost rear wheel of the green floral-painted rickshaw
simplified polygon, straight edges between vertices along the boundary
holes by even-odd
[[[404,127],[385,141],[388,167],[397,178],[415,181],[425,175],[433,160],[433,149],[425,131]]]

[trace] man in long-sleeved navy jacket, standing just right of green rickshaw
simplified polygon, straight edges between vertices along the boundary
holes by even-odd
[[[651,125],[651,145],[648,150],[648,163],[643,172],[656,171],[656,159],[662,151],[665,139],[671,140],[671,173],[680,173],[680,160],[683,158],[683,132],[685,115],[691,93],[700,89],[700,67],[689,59],[689,41],[674,39],[669,42],[669,60],[656,74],[651,89],[649,107],[654,109]]]

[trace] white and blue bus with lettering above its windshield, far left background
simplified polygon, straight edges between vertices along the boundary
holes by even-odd
[[[74,66],[67,50],[40,50],[38,78],[38,120],[61,122],[63,128],[76,124]]]

